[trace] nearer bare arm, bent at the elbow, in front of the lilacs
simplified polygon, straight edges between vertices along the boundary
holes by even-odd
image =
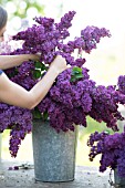
[[[0,101],[14,106],[32,109],[46,95],[55,77],[66,69],[66,62],[58,56],[48,73],[30,91],[11,82],[4,73],[0,75]]]

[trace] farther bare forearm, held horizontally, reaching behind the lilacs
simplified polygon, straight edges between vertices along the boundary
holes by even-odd
[[[39,55],[34,54],[20,54],[20,55],[0,55],[0,69],[6,70],[9,67],[18,66],[24,61],[39,60]]]

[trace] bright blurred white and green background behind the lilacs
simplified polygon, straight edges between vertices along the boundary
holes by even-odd
[[[111,31],[110,39],[102,39],[96,50],[91,54],[84,54],[86,67],[90,70],[91,79],[97,84],[111,85],[117,83],[118,75],[125,74],[125,24],[124,24],[124,0],[0,0],[9,14],[7,28],[8,34],[25,29],[32,24],[35,15],[52,17],[59,20],[70,10],[75,10],[76,15],[73,27],[70,29],[71,38],[80,34],[86,25],[104,27]],[[119,106],[124,111],[123,106]],[[96,123],[87,118],[87,128],[80,127],[76,164],[98,166],[100,156],[91,163],[88,160],[88,147],[86,142],[88,135],[95,130],[108,130],[104,123]],[[118,122],[121,130],[124,122]],[[2,134],[2,159],[8,160],[32,160],[31,134],[25,137],[19,149],[18,157],[11,158],[9,154],[9,130]]]

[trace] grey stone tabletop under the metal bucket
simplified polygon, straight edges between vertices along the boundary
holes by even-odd
[[[17,170],[9,170],[10,167],[13,168],[14,166],[20,167]],[[110,170],[101,174],[97,167],[76,166],[73,181],[41,182],[34,179],[32,164],[20,161],[0,163],[0,188],[111,188],[108,180]]]

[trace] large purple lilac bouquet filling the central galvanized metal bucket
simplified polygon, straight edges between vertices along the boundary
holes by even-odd
[[[90,79],[84,66],[86,60],[82,52],[91,53],[101,38],[111,36],[105,28],[86,27],[80,36],[65,42],[70,36],[69,28],[75,12],[70,11],[55,23],[51,18],[34,18],[35,24],[19,32],[13,40],[23,41],[22,48],[10,54],[40,53],[41,61],[28,61],[22,65],[7,70],[8,76],[15,83],[30,90],[48,71],[56,54],[65,58],[70,69],[55,80],[44,100],[33,109],[28,111],[0,104],[0,130],[10,128],[10,153],[15,157],[21,139],[31,132],[32,118],[50,119],[50,126],[60,130],[74,130],[75,125],[86,125],[90,115],[97,122],[105,122],[107,127],[117,130],[117,119],[123,119],[118,103],[125,104],[125,95],[116,86],[96,85]],[[77,58],[75,58],[77,51]]]

